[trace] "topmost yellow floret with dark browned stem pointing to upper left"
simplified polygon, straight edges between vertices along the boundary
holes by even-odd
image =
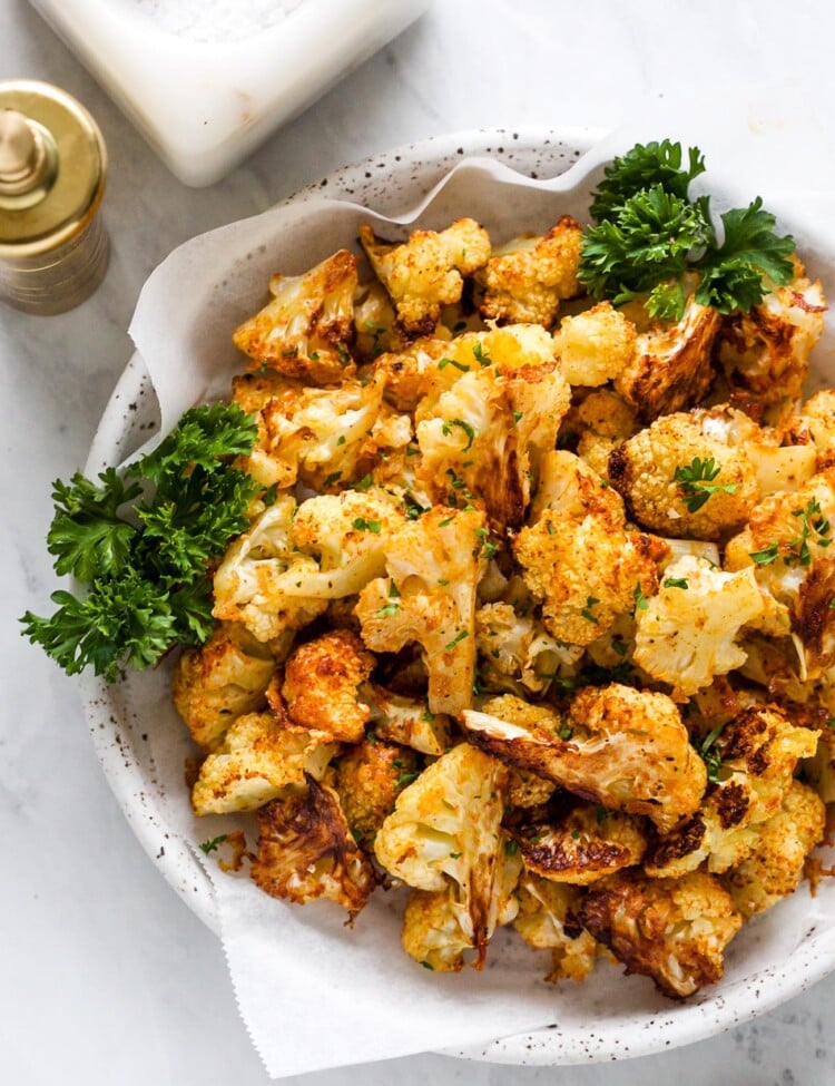
[[[397,312],[397,324],[410,335],[430,334],[441,309],[458,302],[463,276],[490,258],[490,237],[472,218],[459,218],[446,229],[413,231],[409,241],[389,244],[360,226],[360,242],[372,268]]]

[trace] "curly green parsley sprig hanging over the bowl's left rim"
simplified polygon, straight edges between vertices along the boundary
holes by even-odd
[[[87,591],[52,594],[50,618],[27,612],[23,634],[68,675],[108,682],[155,664],[173,645],[212,633],[212,562],[248,526],[258,485],[230,464],[257,434],[237,405],[187,411],[150,453],[98,482],[80,472],[53,485],[47,547],[55,569]]]

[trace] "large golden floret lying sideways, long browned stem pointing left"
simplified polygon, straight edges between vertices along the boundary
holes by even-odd
[[[471,743],[611,811],[646,814],[661,832],[698,809],[705,764],[666,694],[586,687],[561,718],[505,694],[463,713]]]

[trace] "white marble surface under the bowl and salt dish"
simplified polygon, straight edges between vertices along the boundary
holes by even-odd
[[[703,0],[698,10],[684,0],[438,0],[223,183],[193,190],[170,177],[24,0],[0,0],[0,78],[65,87],[105,131],[114,250],[104,286],[81,309],[35,319],[0,307],[0,1082],[267,1082],[219,945],[134,839],[92,753],[73,683],[16,623],[27,607],[49,606],[50,482],[85,460],[129,358],[125,330],[150,270],[185,238],[261,211],[345,162],[442,131],[611,127],[645,95],[697,95],[769,75],[799,76],[811,105],[832,104],[835,9],[822,9],[796,2],[789,12],[777,0]],[[834,1001],[832,977],[733,1033],[632,1063],[514,1069],[426,1055],[292,1082],[829,1086]]]

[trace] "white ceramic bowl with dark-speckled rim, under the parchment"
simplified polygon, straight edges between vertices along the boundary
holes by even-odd
[[[464,155],[492,156],[527,176],[549,177],[572,165],[601,135],[586,129],[483,130],[428,140],[340,170],[294,200],[315,199],[326,188],[330,197],[392,214],[418,203]],[[119,462],[156,425],[154,390],[143,360],[135,355],[102,417],[87,473]],[[129,687],[108,687],[88,677],[84,697],[97,753],[137,836],[189,908],[217,931],[209,881],[188,844],[169,829],[165,782],[158,780],[148,742],[153,722],[137,718]],[[783,906],[748,926],[731,947],[726,980],[687,1004],[670,1004],[648,984],[612,972],[597,985],[558,989],[554,1016],[560,1020],[548,1029],[448,1054],[497,1063],[576,1064],[640,1056],[703,1039],[765,1012],[835,968],[835,903],[832,898],[829,902],[823,917],[821,910],[817,916],[811,912],[808,920],[802,913],[796,950],[759,971],[746,969],[748,950],[767,946]],[[612,982],[623,992],[617,1015],[603,995]]]

